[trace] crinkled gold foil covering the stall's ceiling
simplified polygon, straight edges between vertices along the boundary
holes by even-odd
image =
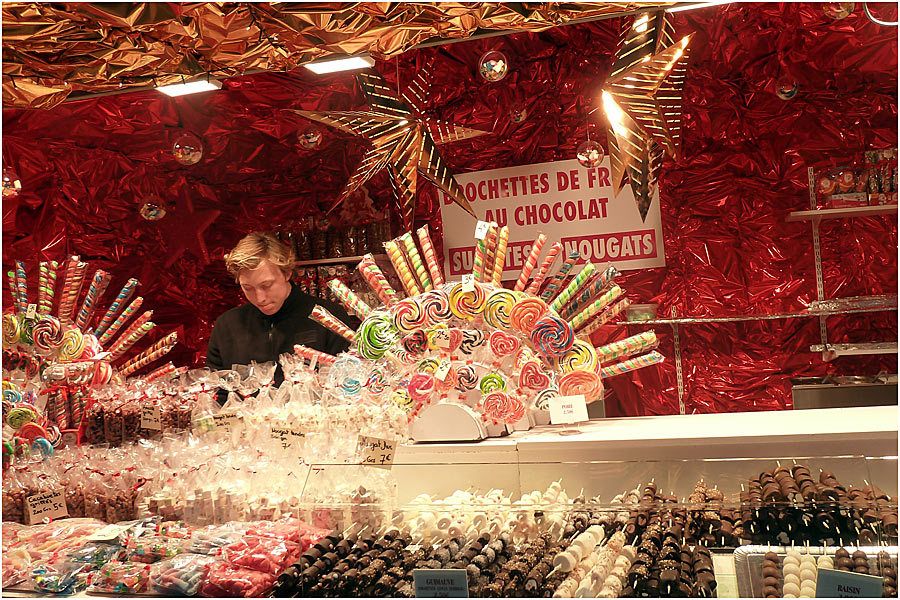
[[[3,103],[49,108],[73,93],[290,70],[334,54],[379,58],[436,39],[542,31],[662,3],[4,2]]]

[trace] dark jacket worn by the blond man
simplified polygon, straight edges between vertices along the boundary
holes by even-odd
[[[292,352],[295,344],[303,344],[328,354],[345,351],[349,343],[309,318],[316,304],[328,309],[351,328],[350,319],[339,306],[300,291],[291,284],[291,293],[274,315],[264,315],[252,304],[232,308],[216,320],[206,366],[213,370],[230,369],[232,365],[247,365],[250,361],[277,363],[278,357]],[[281,365],[275,371],[275,385],[281,385],[284,373]]]

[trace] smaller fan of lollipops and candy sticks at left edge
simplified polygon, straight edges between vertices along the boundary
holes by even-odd
[[[112,279],[109,273],[97,269],[82,297],[88,264],[72,256],[57,296],[58,270],[56,261],[40,263],[36,303],[29,297],[24,263],[16,261],[15,270],[7,273],[14,310],[3,315],[4,349],[39,357],[45,380],[81,386],[109,383],[114,373],[123,378],[135,374],[175,346],[178,335],[173,332],[126,360],[128,351],[156,327],[150,320],[152,310],[138,314],[144,302],[140,296],[133,298],[138,280],[129,279],[107,310],[100,311]],[[175,366],[167,363],[146,378],[175,372]]]

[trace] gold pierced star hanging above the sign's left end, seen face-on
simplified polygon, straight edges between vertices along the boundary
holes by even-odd
[[[421,69],[401,96],[390,89],[377,71],[364,71],[356,79],[369,102],[369,110],[294,111],[313,121],[365,138],[371,144],[331,210],[386,168],[397,196],[404,228],[413,225],[420,174],[475,216],[462,188],[438,154],[437,146],[487,132],[422,115],[422,106],[430,87],[430,73],[430,65]]]

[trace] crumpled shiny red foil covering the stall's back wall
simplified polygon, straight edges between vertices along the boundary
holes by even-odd
[[[893,5],[870,6],[896,18]],[[661,179],[667,266],[628,272],[622,285],[637,302],[658,302],[661,317],[673,309],[682,317],[801,311],[816,299],[812,235],[808,223],[785,218],[808,208],[808,166],[897,145],[897,29],[871,23],[860,6],[833,21],[820,4],[732,4],[675,19],[678,35],[697,35],[684,155],[665,163]],[[428,110],[492,132],[442,148],[454,172],[568,159],[587,127],[603,137],[601,113],[591,111],[623,24],[415,50],[378,68],[393,83],[399,71],[403,83],[433,58]],[[511,62],[499,83],[477,73],[488,49]],[[775,94],[784,81],[799,84],[792,100]],[[23,185],[16,201],[3,203],[4,269],[25,259],[36,281],[38,260],[80,254],[114,274],[110,290],[136,276],[159,329],[183,334],[173,358],[200,364],[212,322],[241,301],[224,252],[249,231],[290,230],[321,214],[361,157],[357,140],[328,128],[318,148],[301,149],[296,134],[310,123],[284,109],[363,105],[351,75],[300,69],[231,79],[205,95],[135,92],[4,110],[4,164]],[[514,123],[512,107],[524,107],[527,118]],[[203,139],[197,165],[168,155],[182,131]],[[385,177],[369,191],[377,209],[391,204]],[[143,203],[159,200],[168,215],[142,219]],[[211,224],[198,232],[192,219]],[[439,228],[430,188],[420,192],[417,220]],[[825,222],[821,234],[828,296],[896,293],[896,216]],[[6,292],[3,299],[8,305]],[[896,312],[830,317],[828,325],[831,342],[897,339]],[[595,341],[643,328],[612,327]],[[679,412],[672,329],[655,329],[668,360],[610,379],[609,414]],[[797,376],[897,372],[896,355],[823,362],[809,352],[820,342],[814,318],[684,325],[679,336],[688,413],[789,407]]]

